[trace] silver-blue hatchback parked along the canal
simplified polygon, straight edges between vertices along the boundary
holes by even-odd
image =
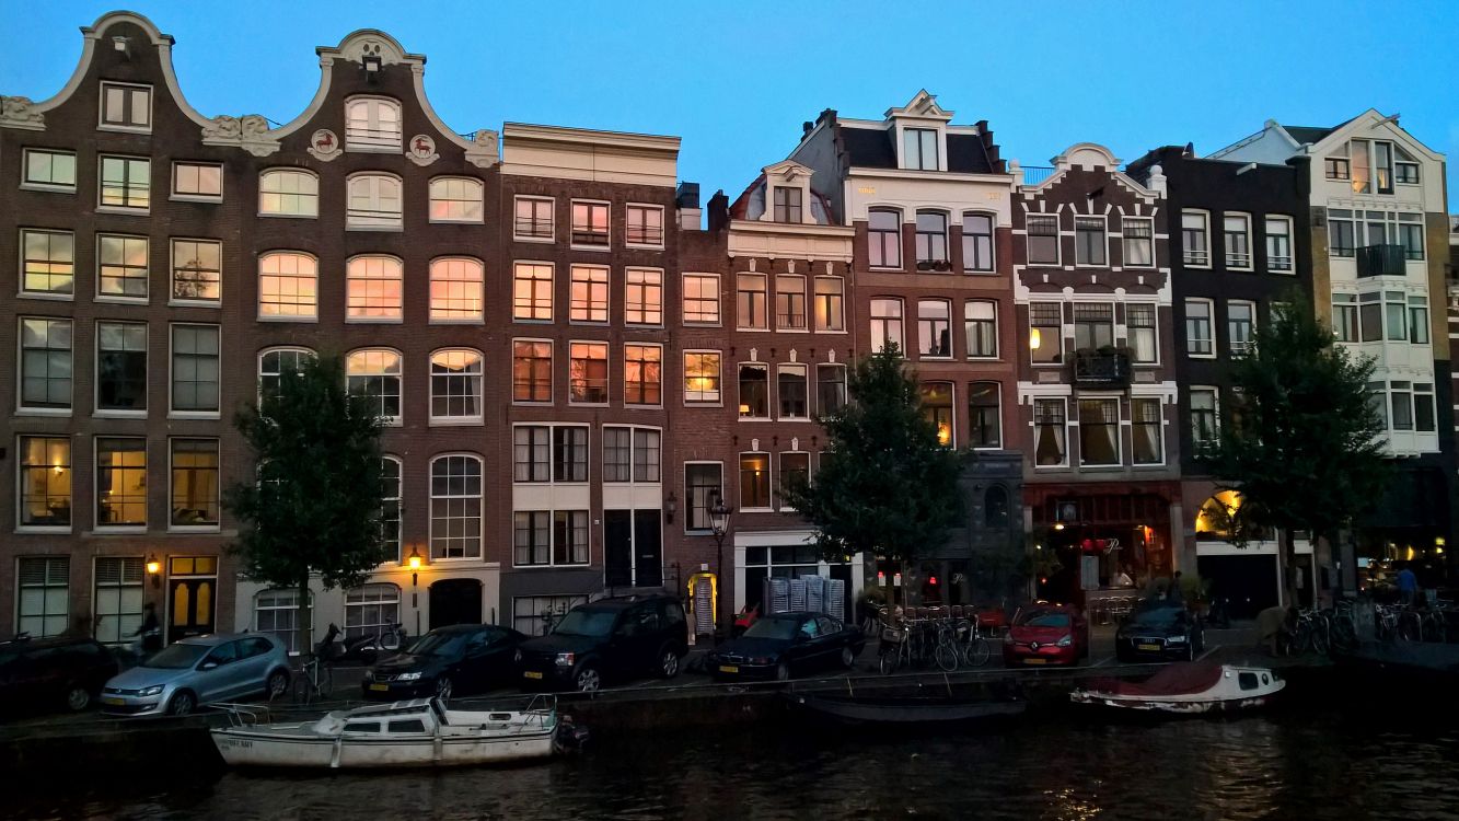
[[[101,709],[117,716],[185,716],[198,704],[289,690],[289,653],[266,633],[193,636],[112,678]]]

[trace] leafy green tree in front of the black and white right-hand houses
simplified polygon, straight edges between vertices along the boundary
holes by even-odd
[[[1293,531],[1335,544],[1339,528],[1364,515],[1388,478],[1383,433],[1369,381],[1373,360],[1334,343],[1310,297],[1294,293],[1259,328],[1252,350],[1230,365],[1237,398],[1208,454],[1217,484],[1239,494],[1228,532],[1281,529],[1282,567],[1293,567]],[[1287,601],[1293,579],[1284,576]]]

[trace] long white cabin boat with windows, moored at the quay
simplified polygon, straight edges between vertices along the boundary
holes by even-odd
[[[223,704],[229,726],[212,735],[223,761],[235,767],[331,770],[516,763],[579,745],[584,731],[570,717],[559,722],[550,697],[538,699],[525,710],[483,712],[414,699],[293,723],[260,723],[267,713]]]

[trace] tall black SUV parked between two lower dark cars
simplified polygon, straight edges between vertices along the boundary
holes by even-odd
[[[572,608],[547,636],[522,642],[522,684],[592,693],[605,678],[673,678],[689,652],[684,607],[670,595],[598,599]]]

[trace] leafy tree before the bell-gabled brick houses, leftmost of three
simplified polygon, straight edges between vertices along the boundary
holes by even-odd
[[[285,369],[260,402],[238,413],[257,465],[254,481],[225,491],[244,522],[232,545],[249,577],[299,591],[299,652],[309,637],[309,576],[353,588],[394,559],[381,529],[382,477],[376,402],[349,392],[338,357]]]

